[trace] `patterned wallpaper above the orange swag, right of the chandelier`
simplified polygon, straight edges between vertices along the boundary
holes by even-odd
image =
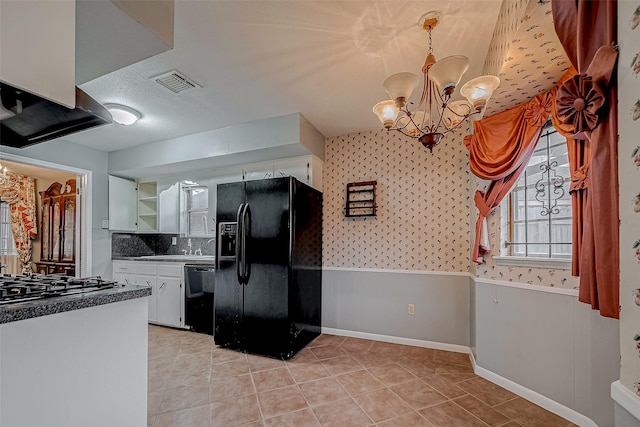
[[[499,24],[504,29],[496,28],[485,63],[485,72],[500,77],[500,86],[491,97],[485,116],[547,92],[570,66],[553,28],[551,2],[530,0],[524,16],[521,1],[512,0],[509,4],[510,7],[503,6],[504,16],[500,19],[505,22]],[[498,53],[503,54],[501,68],[497,66]]]

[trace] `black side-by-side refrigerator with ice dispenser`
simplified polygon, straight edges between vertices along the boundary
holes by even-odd
[[[322,193],[293,177],[219,184],[214,340],[289,359],[320,334]]]

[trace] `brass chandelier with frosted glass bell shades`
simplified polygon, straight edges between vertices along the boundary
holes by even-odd
[[[438,25],[439,18],[440,14],[432,11],[422,15],[418,22],[429,33],[429,49],[422,66],[422,96],[416,108],[410,110],[408,105],[413,103],[408,100],[420,79],[406,72],[387,77],[382,86],[391,99],[373,107],[373,113],[387,130],[416,138],[431,152],[447,133],[459,127],[468,117],[474,114],[482,116],[487,101],[500,84],[496,76],[476,77],[460,89],[468,102],[449,102],[462,75],[469,68],[469,59],[453,55],[436,61],[431,31]]]

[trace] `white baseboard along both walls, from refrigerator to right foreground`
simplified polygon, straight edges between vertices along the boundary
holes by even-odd
[[[373,341],[389,342],[393,344],[412,345],[415,347],[433,348],[436,350],[453,351],[456,353],[467,353],[471,358],[471,364],[473,365],[473,370],[476,373],[476,375],[488,381],[491,381],[492,383],[497,384],[500,387],[505,388],[512,393],[517,394],[523,399],[533,402],[536,405],[546,409],[547,411],[553,412],[554,414],[562,418],[565,418],[581,427],[598,427],[598,425],[595,422],[593,422],[591,418],[586,417],[581,413],[574,411],[571,408],[561,405],[555,400],[551,400],[548,397],[543,396],[538,392],[530,390],[524,386],[521,386],[518,383],[515,383],[511,380],[501,377],[498,374],[494,374],[493,372],[481,366],[478,366],[476,364],[476,359],[473,355],[473,352],[469,347],[466,347],[464,345],[439,343],[434,341],[416,340],[413,338],[402,338],[402,337],[394,337],[390,335],[371,334],[368,332],[348,331],[344,329],[333,329],[333,328],[325,328],[325,327],[322,328],[322,333],[330,334],[330,335],[339,335],[344,337],[362,338],[362,339],[373,340]]]

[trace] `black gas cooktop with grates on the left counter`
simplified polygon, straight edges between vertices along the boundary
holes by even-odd
[[[61,274],[0,275],[0,304],[101,291],[120,286],[118,282],[96,277]]]

